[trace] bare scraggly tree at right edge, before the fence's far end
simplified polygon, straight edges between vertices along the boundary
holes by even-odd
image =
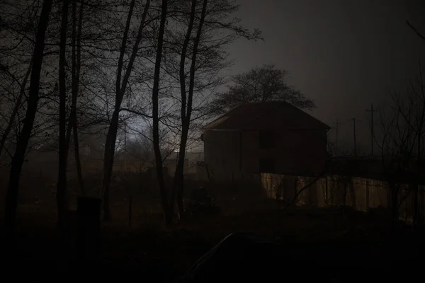
[[[420,64],[419,64],[420,65]],[[414,223],[418,222],[418,187],[421,160],[424,155],[425,88],[421,66],[407,91],[392,94],[387,112],[380,112],[382,137],[375,137],[381,150],[382,166],[390,185],[392,221],[399,218],[399,207],[414,194]],[[401,196],[402,184],[410,183],[407,194]]]

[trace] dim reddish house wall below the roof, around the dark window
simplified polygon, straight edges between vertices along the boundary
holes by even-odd
[[[324,130],[281,131],[272,149],[260,149],[259,132],[206,131],[205,163],[215,178],[228,180],[260,173],[260,158],[276,161],[273,173],[320,172],[327,158],[326,142]]]

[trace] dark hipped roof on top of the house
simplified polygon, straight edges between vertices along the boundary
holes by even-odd
[[[284,101],[245,103],[210,122],[206,130],[330,129]]]

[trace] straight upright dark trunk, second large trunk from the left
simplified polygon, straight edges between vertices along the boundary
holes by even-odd
[[[67,47],[68,0],[62,4],[62,23],[60,30],[59,54],[59,174],[57,180],[57,221],[60,232],[64,229],[64,214],[67,210],[67,153],[69,139],[67,140],[67,86],[65,78],[65,55]]]

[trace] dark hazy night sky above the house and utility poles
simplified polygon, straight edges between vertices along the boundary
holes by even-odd
[[[229,47],[236,60],[232,74],[261,64],[290,72],[288,83],[317,104],[314,117],[339,127],[339,144],[357,140],[370,148],[365,110],[382,107],[391,91],[407,86],[425,66],[423,0],[240,0],[238,16],[263,31],[263,42],[239,40]],[[370,115],[370,114],[368,114]]]

